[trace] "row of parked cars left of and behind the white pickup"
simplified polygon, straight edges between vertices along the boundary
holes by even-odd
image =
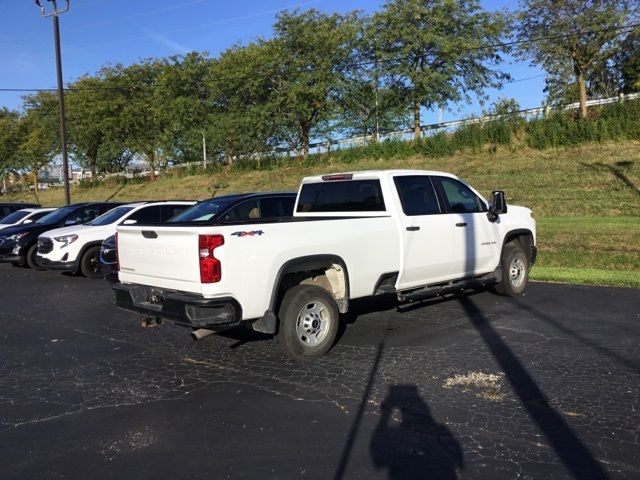
[[[115,233],[120,225],[290,217],[295,198],[293,192],[281,192],[223,195],[202,202],[85,202],[57,209],[0,204],[0,211],[11,209],[0,219],[0,263],[117,282]]]

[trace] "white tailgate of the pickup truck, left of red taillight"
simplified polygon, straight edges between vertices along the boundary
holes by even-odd
[[[153,279],[193,284],[200,289],[198,232],[193,228],[118,227],[121,279],[159,286]]]

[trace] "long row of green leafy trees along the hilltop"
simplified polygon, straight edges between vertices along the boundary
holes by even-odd
[[[549,73],[549,99],[579,98],[584,116],[588,96],[640,89],[637,16],[635,0],[521,0],[513,24],[479,0],[387,0],[372,15],[283,11],[269,38],[213,58],[151,58],[78,78],[66,90],[69,151],[93,177],[134,158],[153,177],[199,161],[203,141],[210,160],[230,164],[281,150],[304,158],[314,141],[375,142],[410,124],[418,139],[425,109],[484,99],[506,81],[499,66],[514,43]],[[59,151],[56,93],[0,110],[0,175],[37,174]]]

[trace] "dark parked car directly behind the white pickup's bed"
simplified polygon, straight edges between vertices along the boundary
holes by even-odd
[[[193,207],[168,220],[167,223],[186,222],[211,225],[214,223],[259,221],[261,218],[290,217],[296,202],[295,192],[239,193],[221,195],[196,203]],[[118,281],[117,245],[115,235],[102,242],[100,267],[104,278]]]

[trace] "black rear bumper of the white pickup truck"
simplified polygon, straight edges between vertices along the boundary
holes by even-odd
[[[242,320],[240,304],[233,298],[203,298],[200,295],[163,290],[146,285],[115,284],[116,305],[143,315],[208,330],[235,327]]]

